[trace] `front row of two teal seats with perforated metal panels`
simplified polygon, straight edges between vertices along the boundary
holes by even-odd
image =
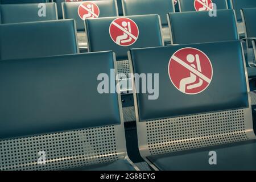
[[[170,57],[187,47],[203,51],[214,72],[195,96],[168,77]],[[159,73],[158,100],[134,93],[139,150],[152,168],[256,169],[242,51],[239,41],[131,49],[131,72]],[[97,76],[111,77],[115,64],[112,51],[1,61],[0,169],[138,169],[126,154],[120,95],[97,92]]]

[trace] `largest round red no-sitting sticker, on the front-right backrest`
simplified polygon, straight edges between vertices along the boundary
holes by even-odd
[[[172,55],[168,72],[172,84],[185,94],[199,94],[210,85],[212,63],[204,52],[196,48],[182,48]]]

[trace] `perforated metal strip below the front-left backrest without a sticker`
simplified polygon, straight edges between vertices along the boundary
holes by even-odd
[[[0,170],[59,170],[113,162],[126,155],[121,125],[0,141]],[[46,164],[38,164],[45,152]]]

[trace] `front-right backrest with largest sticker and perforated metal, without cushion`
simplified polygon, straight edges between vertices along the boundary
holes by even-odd
[[[200,52],[194,55],[200,61],[200,73],[204,75],[208,69],[208,73],[212,72],[212,77],[203,76],[206,80],[209,78],[208,87],[193,90],[200,89],[197,84],[197,87],[189,88],[189,85],[199,83],[203,77],[190,69],[191,63],[185,60],[188,55],[179,54],[184,50],[190,50],[188,55],[189,52],[191,55]],[[133,73],[159,74],[159,97],[156,100],[148,100],[152,94],[138,91],[134,94],[142,156],[255,138],[247,94],[247,75],[239,41],[131,49],[130,54]],[[199,68],[198,64],[195,68]],[[189,81],[189,75],[192,78],[194,73],[197,80],[190,80],[183,90],[185,78]],[[201,85],[207,82],[204,79]],[[230,81],[233,79],[236,82]],[[158,86],[156,82],[153,82],[154,88]],[[142,88],[141,82],[136,85]]]

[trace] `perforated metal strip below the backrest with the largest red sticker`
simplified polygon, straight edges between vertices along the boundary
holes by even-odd
[[[250,108],[137,122],[141,154],[150,156],[253,139],[249,114]]]

